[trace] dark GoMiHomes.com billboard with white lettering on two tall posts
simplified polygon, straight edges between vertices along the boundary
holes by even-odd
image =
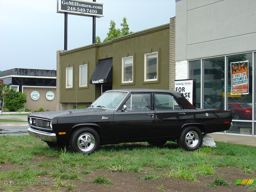
[[[57,13],[103,17],[103,3],[81,0],[57,0]]]

